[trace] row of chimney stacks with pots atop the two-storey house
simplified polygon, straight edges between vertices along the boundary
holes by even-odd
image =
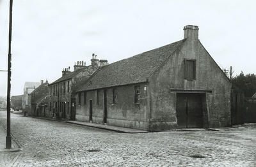
[[[97,59],[97,55],[92,54],[92,59],[91,59],[91,65],[93,69],[101,68],[102,66],[108,65],[108,60],[99,60]],[[75,62],[74,65],[74,71],[80,68],[86,67],[86,62],[85,61],[77,61]],[[70,67],[68,68],[63,68],[62,70],[62,76],[67,75],[68,73],[71,73]]]

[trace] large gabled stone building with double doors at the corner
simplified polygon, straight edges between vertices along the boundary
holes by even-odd
[[[147,131],[230,126],[231,83],[186,25],[184,39],[99,68],[76,92],[76,120]]]

